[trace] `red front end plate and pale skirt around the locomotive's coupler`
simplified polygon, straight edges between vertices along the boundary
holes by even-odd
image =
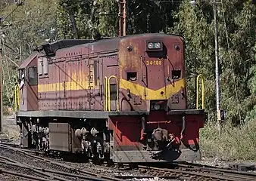
[[[186,115],[185,123],[182,121],[182,115],[167,115],[165,112],[161,114],[154,112],[146,115],[145,118],[147,123],[145,129],[155,130],[161,127],[173,135],[175,139],[173,146],[177,149],[176,154],[174,152],[166,153],[167,157],[165,157],[165,153],[161,153],[159,157],[153,158],[151,154],[159,152],[158,149],[151,149],[148,146],[144,146],[143,143],[145,142],[139,141],[142,130],[141,121],[136,116],[126,116],[121,119],[117,116],[111,116],[108,121],[108,127],[114,130],[114,149],[117,150],[114,154],[115,161],[153,162],[201,159],[198,130],[203,126],[203,115]],[[127,129],[127,127],[133,127],[133,131]],[[182,133],[182,130],[184,133]],[[142,152],[144,152],[144,155],[140,155]],[[189,152],[189,155],[184,152]],[[134,155],[132,156],[130,154]],[[131,160],[132,157],[133,160]]]

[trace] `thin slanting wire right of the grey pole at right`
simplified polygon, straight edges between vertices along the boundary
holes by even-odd
[[[226,28],[226,17],[225,17],[225,10],[224,10],[224,6],[223,6],[223,0],[221,0],[221,7],[223,10],[223,21],[224,21],[224,26],[225,26],[225,32],[226,32],[226,44],[227,44],[227,48],[229,51],[229,60],[231,62],[231,69],[233,72],[233,81],[234,81],[234,88],[235,88],[235,92],[236,92],[236,100],[237,100],[237,108],[238,108],[238,112],[239,112],[239,121],[240,123],[242,123],[242,116],[241,116],[241,110],[240,110],[240,103],[239,103],[239,95],[238,95],[238,90],[237,90],[237,85],[236,85],[236,75],[235,75],[235,71],[234,71],[234,66],[233,66],[233,59],[231,57],[231,51],[230,51],[230,45],[229,45],[229,33],[227,32],[227,28]]]

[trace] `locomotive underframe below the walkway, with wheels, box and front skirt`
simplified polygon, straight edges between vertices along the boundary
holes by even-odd
[[[88,158],[111,159],[117,163],[201,160],[200,149],[196,141],[195,144],[176,144],[176,147],[173,146],[172,149],[154,150],[148,146],[148,141],[143,143],[139,140],[141,135],[138,133],[138,129],[143,127],[140,120],[143,116],[147,117],[150,114],[150,112],[86,111],[17,112],[17,124],[20,125],[20,132],[22,133],[20,147],[36,146],[37,149],[47,152],[83,153]],[[195,127],[195,124],[198,124],[198,128],[203,126],[203,124],[200,126],[201,123],[196,120],[197,118],[202,119],[204,110],[172,110],[167,114],[170,118],[176,115],[181,116],[180,118],[182,116],[195,118],[192,121],[194,123],[190,125],[187,121],[184,129],[180,130],[184,132],[185,137],[186,126]],[[181,121],[182,119],[178,124]],[[147,125],[151,126],[151,121],[148,123]],[[126,131],[123,133],[123,137],[122,124],[124,127],[129,124],[135,130],[130,130],[129,133],[129,130],[123,129]],[[158,124],[158,126],[153,126],[154,129],[167,127],[167,124],[161,124],[161,121],[156,121],[153,124]],[[138,127],[138,125],[140,126]],[[170,127],[173,125],[170,124]],[[36,127],[40,128],[36,130]],[[175,130],[177,129],[175,128]],[[148,127],[147,131],[150,132],[152,129]],[[77,133],[79,133],[79,137]],[[176,136],[180,137],[180,135]],[[138,139],[135,140],[136,138]],[[122,141],[120,141],[122,139],[123,146]]]

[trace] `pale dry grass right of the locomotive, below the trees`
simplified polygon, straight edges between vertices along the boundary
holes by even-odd
[[[223,125],[219,136],[216,124],[208,123],[200,130],[201,152],[204,157],[218,157],[223,161],[256,161],[256,121],[241,127]]]

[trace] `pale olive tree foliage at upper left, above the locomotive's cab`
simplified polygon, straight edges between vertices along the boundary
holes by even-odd
[[[8,6],[3,12],[4,16],[8,16],[14,8],[15,5]],[[45,39],[57,39],[56,11],[57,3],[53,0],[26,1],[26,5],[17,8],[6,20],[6,23],[13,24],[5,30],[8,35],[6,44],[14,51],[22,46],[23,57],[27,57]]]

